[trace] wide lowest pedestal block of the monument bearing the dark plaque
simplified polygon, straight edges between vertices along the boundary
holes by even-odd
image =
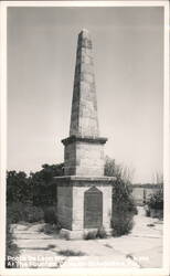
[[[84,238],[88,232],[97,233],[98,229],[110,235],[114,177],[64,176],[54,181],[57,183],[61,237]]]

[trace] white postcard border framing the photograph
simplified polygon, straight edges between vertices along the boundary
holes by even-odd
[[[163,178],[164,178],[164,225],[163,225],[163,268],[4,268],[6,252],[6,168],[7,168],[7,9],[8,7],[163,7],[164,8],[164,103],[163,103]],[[169,120],[169,1],[2,1],[0,6],[1,41],[1,95],[0,95],[0,273],[2,275],[169,275],[170,274],[170,120]]]

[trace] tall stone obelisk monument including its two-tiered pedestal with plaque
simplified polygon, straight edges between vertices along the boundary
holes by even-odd
[[[64,177],[57,184],[57,219],[72,238],[104,227],[110,233],[111,181],[104,177],[104,145],[99,136],[92,40],[78,34],[70,137],[63,139]]]

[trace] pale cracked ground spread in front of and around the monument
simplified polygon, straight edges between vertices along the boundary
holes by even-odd
[[[145,216],[142,208],[135,216],[131,233],[120,237],[66,241],[56,234],[44,234],[43,227],[44,223],[12,225],[20,267],[152,268],[162,265],[162,221]]]

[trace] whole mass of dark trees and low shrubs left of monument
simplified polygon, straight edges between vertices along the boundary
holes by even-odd
[[[40,171],[30,176],[23,171],[8,171],[7,217],[12,223],[42,220],[45,206],[56,205],[56,183],[53,180],[59,176],[63,176],[63,163],[43,164]]]

